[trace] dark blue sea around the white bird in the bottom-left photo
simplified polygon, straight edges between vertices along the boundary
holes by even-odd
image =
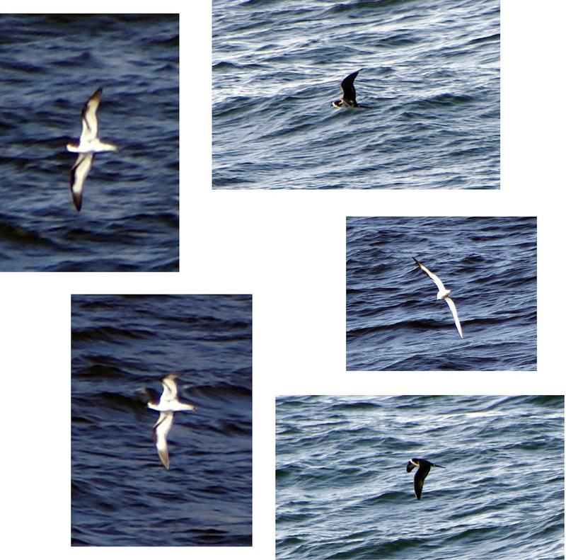
[[[250,546],[250,296],[74,296],[71,539],[97,546]],[[146,408],[179,372],[170,467]]]

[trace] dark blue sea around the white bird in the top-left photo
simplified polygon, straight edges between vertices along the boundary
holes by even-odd
[[[179,268],[177,15],[0,16],[0,268]],[[97,154],[76,212],[66,145],[103,88]]]

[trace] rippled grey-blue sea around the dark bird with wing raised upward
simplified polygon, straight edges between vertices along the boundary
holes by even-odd
[[[212,131],[214,188],[497,189],[499,1],[214,0]]]

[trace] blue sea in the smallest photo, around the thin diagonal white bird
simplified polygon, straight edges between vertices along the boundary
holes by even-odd
[[[534,217],[348,218],[347,369],[536,370],[536,247]]]

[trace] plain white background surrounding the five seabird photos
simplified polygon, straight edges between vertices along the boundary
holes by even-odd
[[[30,11],[45,7],[30,3]],[[1,275],[4,549],[124,553],[70,547],[71,294],[253,294],[253,548],[169,549],[172,558],[275,558],[276,395],[564,394],[561,1],[502,1],[501,190],[480,191],[213,191],[210,96],[191,98],[196,80],[204,91],[212,84],[211,3],[49,7],[180,13],[180,273]],[[346,372],[345,228],[353,215],[537,216],[538,372]]]

